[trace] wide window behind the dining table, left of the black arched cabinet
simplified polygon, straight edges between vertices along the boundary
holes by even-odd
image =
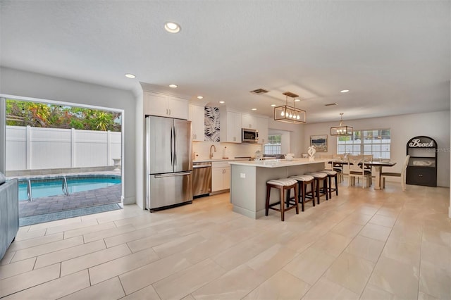
[[[354,135],[337,137],[337,154],[373,154],[390,159],[390,130],[360,130]]]

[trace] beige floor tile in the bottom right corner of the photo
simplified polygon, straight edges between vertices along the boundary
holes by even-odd
[[[433,263],[421,263],[419,290],[437,299],[450,299],[451,270],[437,268]]]

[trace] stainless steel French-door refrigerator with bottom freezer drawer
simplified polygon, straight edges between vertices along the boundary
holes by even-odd
[[[146,208],[192,202],[191,121],[146,117]]]

